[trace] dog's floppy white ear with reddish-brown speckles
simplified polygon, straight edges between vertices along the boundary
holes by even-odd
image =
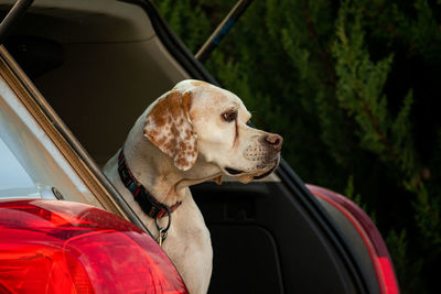
[[[190,119],[192,92],[171,90],[147,115],[144,135],[174,160],[181,171],[197,160],[197,135]]]

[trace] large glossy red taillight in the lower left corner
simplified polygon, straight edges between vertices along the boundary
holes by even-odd
[[[146,232],[67,202],[0,203],[0,293],[186,293]]]

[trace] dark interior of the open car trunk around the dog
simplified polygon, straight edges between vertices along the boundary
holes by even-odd
[[[36,0],[4,45],[98,166],[178,81],[217,84],[149,1]],[[287,163],[266,181],[191,189],[212,236],[209,293],[379,293],[367,253]]]

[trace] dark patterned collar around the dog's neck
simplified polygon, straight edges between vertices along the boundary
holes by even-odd
[[[133,195],[135,200],[141,206],[142,211],[153,219],[158,219],[173,213],[182,202],[178,202],[172,206],[166,206],[157,200],[148,189],[144,188],[131,174],[126,163],[123,148],[118,156],[118,173],[126,188]]]

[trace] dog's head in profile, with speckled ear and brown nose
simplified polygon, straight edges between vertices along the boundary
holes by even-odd
[[[269,175],[283,139],[249,126],[251,115],[233,92],[198,80],[179,83],[148,110],[144,135],[189,171],[196,160],[241,182]]]

